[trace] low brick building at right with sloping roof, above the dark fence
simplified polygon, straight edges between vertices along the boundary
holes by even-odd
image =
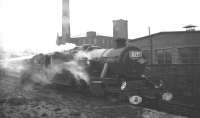
[[[141,48],[149,63],[200,63],[200,31],[160,32],[129,40],[128,45]]]

